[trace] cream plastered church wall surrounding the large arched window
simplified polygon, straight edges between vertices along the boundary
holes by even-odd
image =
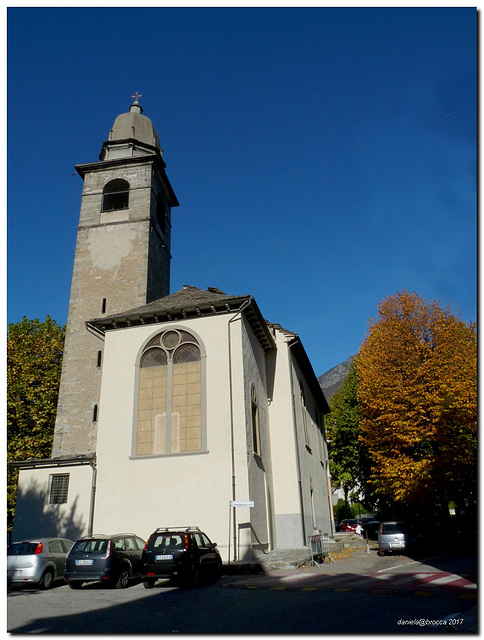
[[[186,319],[107,332],[99,404],[97,493],[94,529],[131,531],[143,539],[156,527],[200,526],[226,561],[232,500],[231,396],[228,372],[230,315]],[[202,346],[206,367],[207,452],[136,458],[132,455],[136,402],[136,366],[142,347],[168,328],[193,333]],[[232,407],[235,497],[247,497],[247,451],[240,320],[231,323]],[[203,395],[203,394],[202,394]],[[237,518],[246,513],[237,511]],[[246,553],[247,541],[237,540]],[[233,555],[233,548],[230,550]]]

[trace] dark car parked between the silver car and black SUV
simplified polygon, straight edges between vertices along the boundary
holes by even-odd
[[[64,579],[71,589],[84,582],[103,582],[125,589],[141,577],[145,541],[133,533],[86,536],[74,543],[66,558]]]

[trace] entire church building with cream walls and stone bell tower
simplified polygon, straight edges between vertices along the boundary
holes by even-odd
[[[298,335],[251,295],[170,294],[178,200],[139,97],[75,167],[52,456],[15,463],[13,539],[197,525],[225,562],[303,548],[333,533],[327,402]]]

